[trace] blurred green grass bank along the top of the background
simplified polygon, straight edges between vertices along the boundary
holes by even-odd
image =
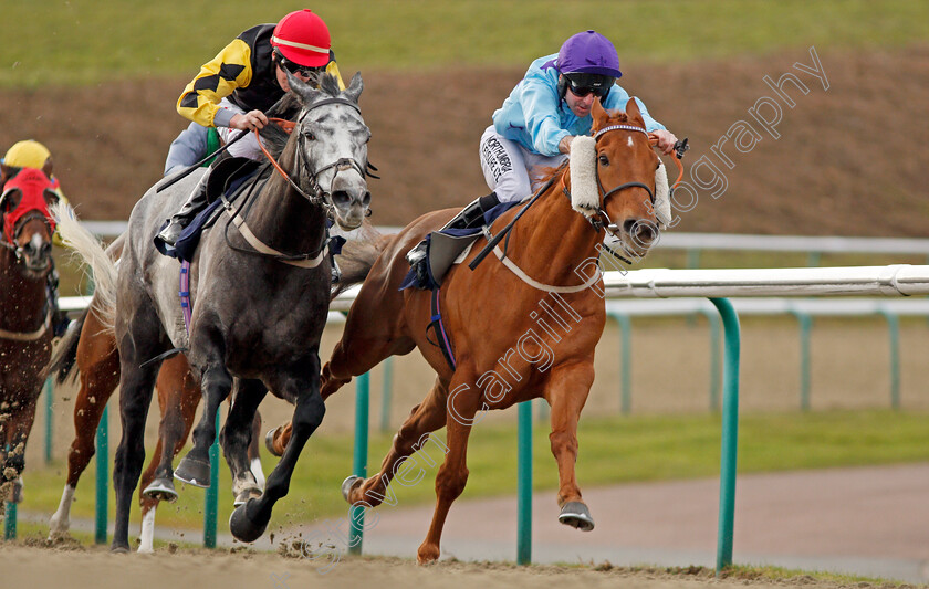
[[[230,0],[216,19],[206,0],[96,2],[34,0],[4,7],[0,87],[95,84],[191,75],[252,23],[293,2]],[[929,4],[909,0],[462,0],[319,7],[343,67],[438,70],[525,65],[592,27],[617,43],[627,67],[769,54],[785,48],[899,48],[929,38]],[[824,25],[828,23],[828,25]]]

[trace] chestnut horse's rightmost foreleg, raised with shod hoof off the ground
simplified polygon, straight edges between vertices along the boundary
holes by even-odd
[[[559,522],[583,532],[594,529],[591,512],[581,498],[575,462],[577,461],[577,420],[594,382],[592,361],[552,368],[545,397],[552,406],[552,433],[549,440],[559,465]]]

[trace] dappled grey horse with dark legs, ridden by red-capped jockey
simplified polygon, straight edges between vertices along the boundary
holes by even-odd
[[[294,404],[293,438],[264,492],[257,491],[230,519],[232,535],[242,541],[264,533],[274,503],[288,492],[296,459],[323,420],[319,346],[331,287],[326,221],[352,230],[368,212],[370,132],[358,107],[361,74],[344,91],[330,76],[323,76],[319,90],[292,75],[288,80],[301,108],[280,156],[281,169],[262,170],[259,176],[270,175],[267,182],[257,185],[247,199],[223,202],[225,217],[203,233],[189,273],[189,336],[178,297],[179,264],[159,255],[153,239],[199,173],[160,192],[153,187],[143,196],[129,217],[118,271],[108,269],[116,272],[113,317],[123,423],[113,473],[114,551],[128,550],[129,505],[145,455],[145,421],[160,358],[170,350],[186,349],[205,398],[194,448],[175,471],[181,481],[209,485],[216,416],[233,379],[237,392],[220,441],[239,487],[254,483],[246,450],[252,416],[267,390]],[[85,260],[108,260],[77,249]],[[107,271],[91,263],[95,273]]]

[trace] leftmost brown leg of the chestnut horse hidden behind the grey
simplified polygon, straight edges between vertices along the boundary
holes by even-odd
[[[96,430],[103,410],[119,383],[119,354],[113,332],[103,330],[96,314],[87,314],[77,344],[81,387],[74,403],[74,441],[67,452],[67,480],[58,511],[49,520],[49,539],[71,527],[71,503],[81,475],[96,451]]]

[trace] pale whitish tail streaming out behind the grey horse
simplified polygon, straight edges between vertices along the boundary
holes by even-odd
[[[104,250],[101,241],[77,221],[70,204],[58,203],[51,209],[62,242],[81,254],[84,263],[91,266],[94,277],[94,313],[100,317],[101,325],[113,329],[116,315],[116,263],[111,253],[114,252],[107,253]],[[122,251],[122,242],[117,250]]]

